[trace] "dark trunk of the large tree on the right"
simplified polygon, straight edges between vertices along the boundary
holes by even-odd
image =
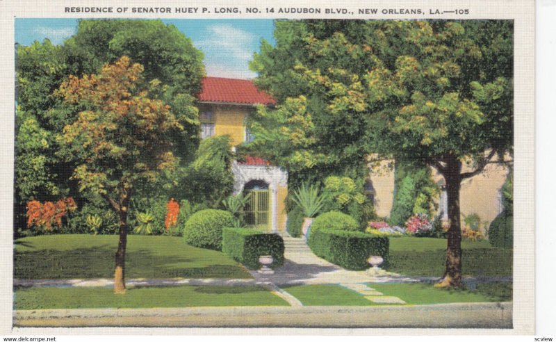
[[[448,195],[448,247],[444,277],[436,287],[461,287],[461,219],[459,188],[461,187],[461,162],[454,158],[447,163],[443,177]]]

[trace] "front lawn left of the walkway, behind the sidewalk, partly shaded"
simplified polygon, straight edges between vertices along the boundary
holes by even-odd
[[[15,277],[111,278],[118,236],[49,235],[15,241]],[[243,266],[214,250],[191,247],[183,238],[130,235],[126,277],[250,278]]]

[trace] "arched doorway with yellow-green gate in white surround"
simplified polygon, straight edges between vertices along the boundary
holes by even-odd
[[[256,179],[248,181],[243,187],[245,195],[250,194],[249,201],[245,204],[245,223],[260,229],[270,229],[270,194],[268,183]]]

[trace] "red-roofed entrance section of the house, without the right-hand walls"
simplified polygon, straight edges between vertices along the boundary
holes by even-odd
[[[232,145],[252,140],[245,125],[257,104],[272,106],[270,95],[261,92],[248,80],[205,77],[198,95],[201,138],[228,135]],[[268,231],[286,231],[285,199],[288,194],[288,173],[261,158],[247,156],[234,161],[234,195],[251,193],[245,206],[249,225],[265,227]]]

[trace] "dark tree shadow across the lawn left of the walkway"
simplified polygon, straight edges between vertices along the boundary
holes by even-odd
[[[114,272],[114,257],[115,247],[112,245],[74,250],[15,252],[15,277],[20,279],[111,278]],[[218,264],[203,266],[197,261],[197,258],[156,255],[149,250],[128,250],[126,277],[250,277],[239,266]]]

